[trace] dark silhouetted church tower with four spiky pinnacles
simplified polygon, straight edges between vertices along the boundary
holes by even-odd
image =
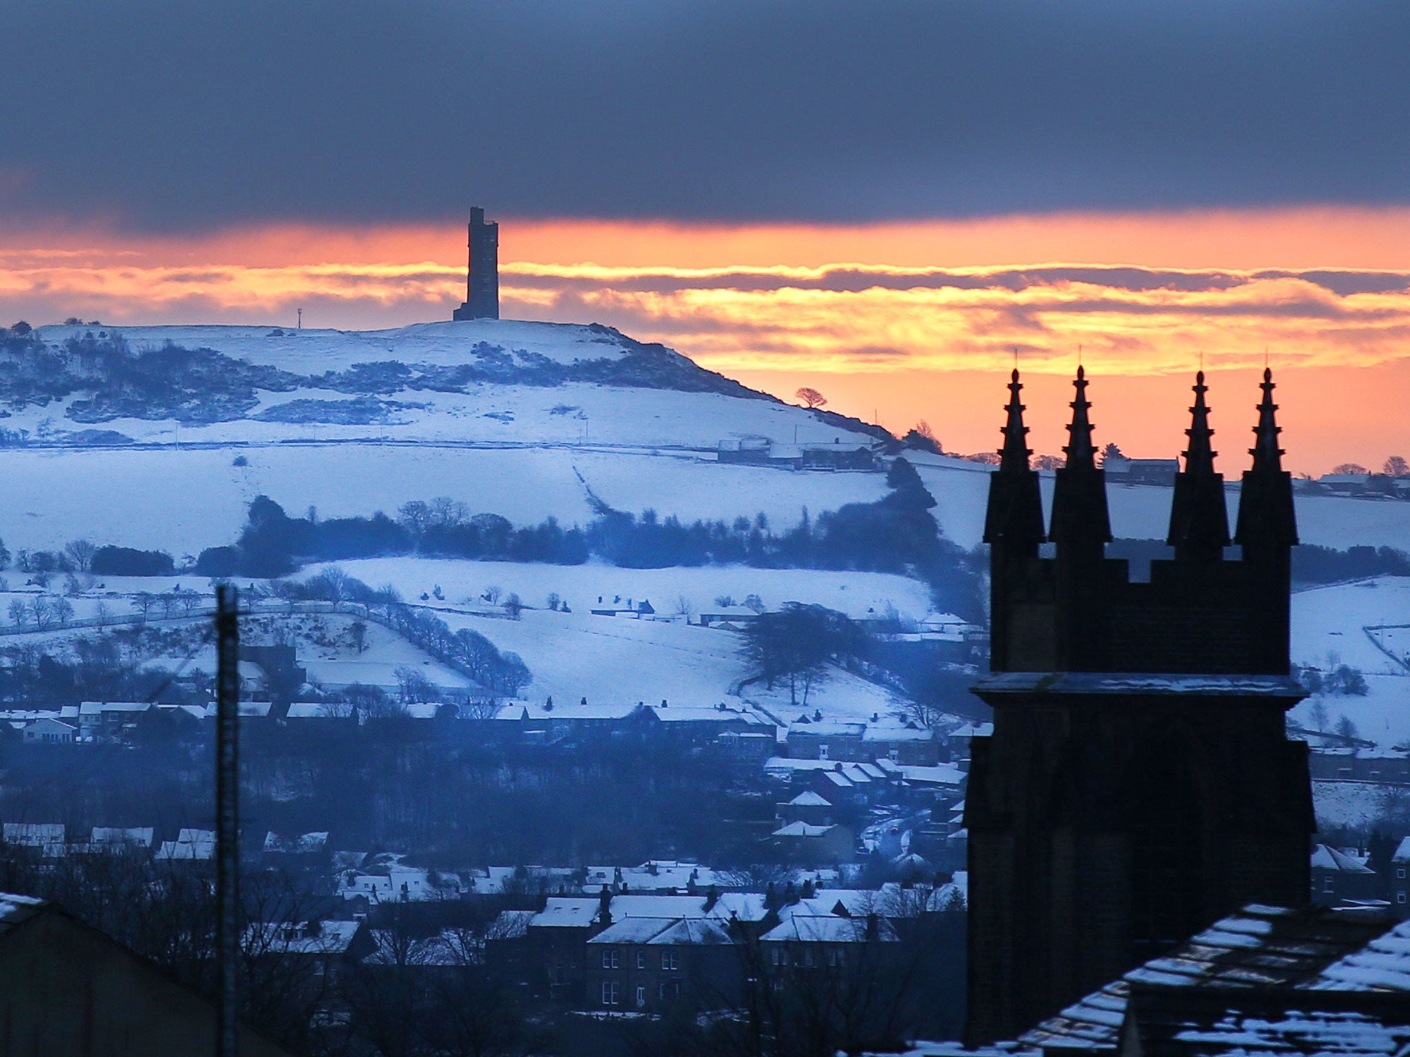
[[[1307,901],[1307,747],[1283,716],[1292,481],[1272,373],[1227,557],[1203,372],[1176,476],[1173,558],[1132,582],[1111,540],[1087,379],[1043,531],[1018,372],[1010,382],[984,541],[991,674],[974,692],[966,793],[970,932],[966,1041],[1012,1039],[1249,902]],[[1043,544],[1050,543],[1050,557]]]

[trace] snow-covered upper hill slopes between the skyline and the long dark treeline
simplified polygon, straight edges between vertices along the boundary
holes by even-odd
[[[790,445],[873,437],[860,423],[780,403],[605,327],[477,320],[386,331],[44,327],[38,335],[68,381],[55,388],[38,371],[45,364],[27,361],[0,371],[8,409],[0,437],[28,441],[0,447],[0,538],[11,551],[86,537],[180,558],[228,543],[261,493],[321,517],[450,496],[517,524],[548,516],[582,524],[595,497],[684,520],[764,513],[776,528],[795,524],[805,507],[816,516],[885,493],[880,474],[716,462],[721,441],[743,435]],[[148,373],[134,382],[124,373],[131,364],[114,371],[111,350],[104,359],[100,348],[113,338],[128,359],[155,357]],[[168,344],[209,351],[168,373],[212,386],[219,407],[195,407],[151,383],[166,369]],[[995,395],[995,443],[998,403]],[[116,412],[125,413],[103,417]],[[988,466],[908,458],[939,500],[945,533],[976,545]],[[1237,481],[1235,465],[1224,469]],[[1043,488],[1050,506],[1050,475]],[[1115,536],[1165,536],[1169,489],[1108,490]],[[1232,514],[1237,489],[1228,496]],[[1299,497],[1297,512],[1306,543],[1410,550],[1410,503]]]

